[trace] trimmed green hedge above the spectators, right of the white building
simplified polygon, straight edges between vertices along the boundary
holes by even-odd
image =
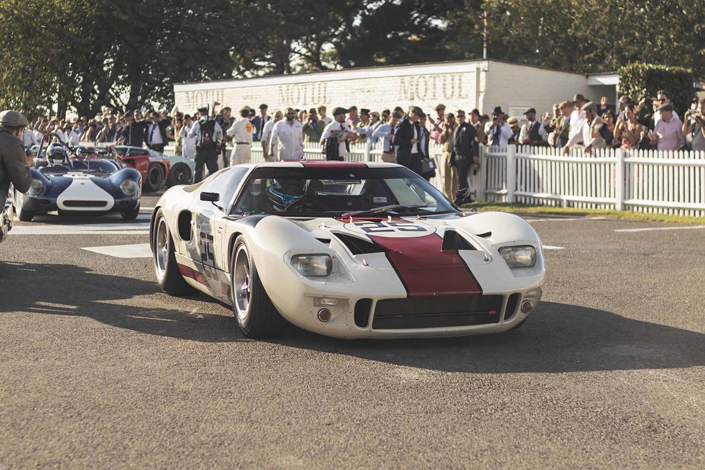
[[[620,68],[619,89],[635,104],[642,98],[656,97],[659,89],[665,89],[681,117],[695,96],[692,69],[651,63],[630,63]]]

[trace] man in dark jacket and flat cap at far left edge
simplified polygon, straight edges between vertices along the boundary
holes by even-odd
[[[19,192],[27,192],[32,184],[28,168],[33,164],[32,156],[25,154],[22,142],[28,125],[27,118],[18,111],[0,113],[0,211],[4,210],[10,183]]]

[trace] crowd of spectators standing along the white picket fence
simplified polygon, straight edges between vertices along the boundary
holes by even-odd
[[[666,90],[637,104],[625,95],[614,107],[606,97],[596,103],[576,94],[554,104],[553,113],[543,113],[540,119],[536,109],[527,109],[522,123],[501,107],[491,115],[477,109],[466,115],[462,109],[446,112],[446,106],[439,104],[434,109],[436,116],[431,116],[417,106],[381,111],[338,107],[330,115],[326,106],[319,106],[288,108],[270,116],[268,106],[262,104],[257,109],[245,106],[233,116],[231,108],[219,106],[214,103],[194,115],[176,110],[173,116],[166,111],[121,112],[105,106],[99,116],[90,119],[44,116],[30,125],[24,140],[27,146],[36,145],[49,132],[73,145],[116,142],[161,152],[173,144],[176,154],[196,159],[197,167],[207,165],[212,172],[217,168],[214,161],[197,159],[204,138],[201,126],[212,120],[216,153],[223,156],[221,166],[249,162],[252,145],[262,147],[266,161],[300,159],[305,147],[316,145],[326,159],[336,160],[343,159],[350,144],[381,142],[383,161],[403,164],[427,179],[436,171],[429,154],[429,144],[434,142],[443,147],[444,190],[449,196],[458,186],[467,187],[469,172],[477,173],[481,144],[556,147],[566,154],[571,149],[585,153],[606,148],[705,150],[705,99],[693,99],[681,119]],[[234,147],[229,161],[226,144]]]

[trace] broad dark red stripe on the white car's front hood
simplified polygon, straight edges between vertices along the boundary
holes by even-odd
[[[436,233],[423,237],[369,237],[386,253],[407,291],[407,297],[481,295],[477,279],[457,249],[441,249]]]

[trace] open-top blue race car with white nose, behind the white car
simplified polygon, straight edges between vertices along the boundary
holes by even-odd
[[[9,200],[20,221],[37,214],[107,214],[118,212],[126,220],[140,213],[142,176],[134,168],[120,168],[110,159],[70,159],[67,147],[50,144],[45,159],[35,160],[32,185],[25,194],[14,188]]]

